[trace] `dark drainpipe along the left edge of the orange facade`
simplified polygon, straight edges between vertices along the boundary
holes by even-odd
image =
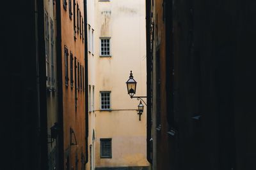
[[[58,122],[60,125],[58,134],[58,163],[59,169],[64,169],[64,132],[63,132],[63,85],[62,85],[62,48],[61,48],[61,1],[56,3],[56,56],[57,56],[57,79],[58,79]]]

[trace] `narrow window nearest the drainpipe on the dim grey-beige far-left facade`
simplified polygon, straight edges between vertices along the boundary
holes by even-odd
[[[54,89],[54,30],[53,30],[53,20],[51,19],[51,85]]]

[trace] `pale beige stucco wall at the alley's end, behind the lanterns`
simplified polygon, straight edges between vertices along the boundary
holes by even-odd
[[[147,110],[139,121],[125,84],[132,70],[136,96],[147,95],[145,1],[95,2],[95,166],[148,166]],[[100,37],[111,38],[111,57],[99,57]],[[111,111],[100,111],[100,91],[111,91]],[[100,159],[100,138],[112,138],[111,159]]]

